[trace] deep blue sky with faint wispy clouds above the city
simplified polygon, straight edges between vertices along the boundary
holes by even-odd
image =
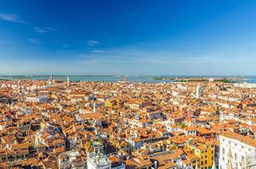
[[[256,74],[254,0],[3,0],[0,74]]]

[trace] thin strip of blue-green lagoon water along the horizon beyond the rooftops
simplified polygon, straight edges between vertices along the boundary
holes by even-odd
[[[243,78],[243,82],[247,83],[256,83],[256,76],[202,76],[202,75],[129,75],[129,76],[120,76],[120,75],[70,75],[70,81],[106,81],[114,82],[118,81],[121,77],[127,77],[129,81],[132,82],[171,82],[172,79],[168,80],[159,80],[153,79],[153,77],[165,77],[165,78],[189,78],[189,77],[200,77],[200,78]],[[18,79],[50,79],[50,75],[0,75],[0,79],[8,80],[18,80]],[[53,75],[53,79],[66,80],[67,75]]]

